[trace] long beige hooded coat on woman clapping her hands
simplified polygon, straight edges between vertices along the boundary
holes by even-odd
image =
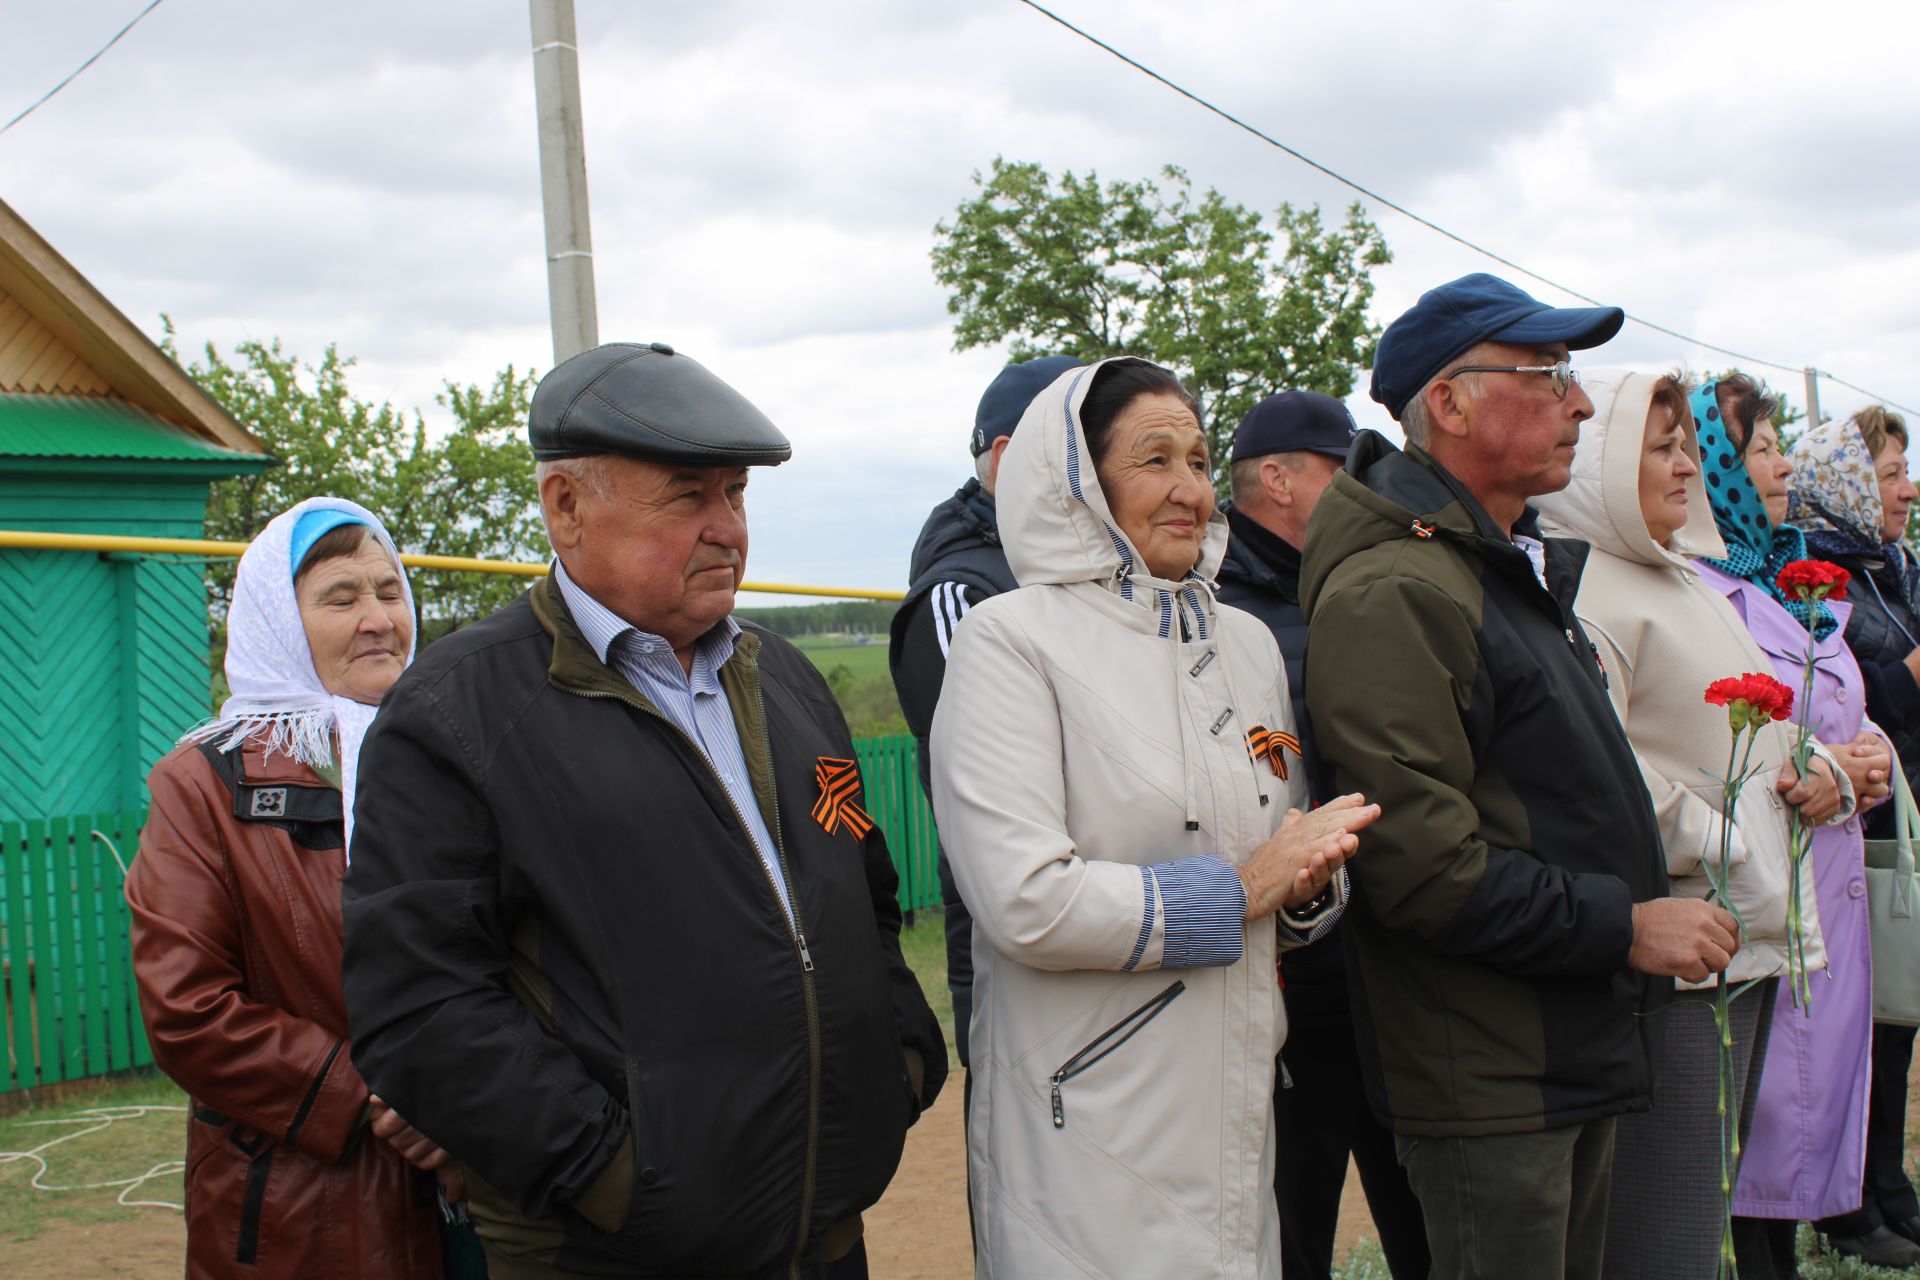
[[[1306,804],[1298,758],[1283,781],[1248,756],[1256,725],[1294,729],[1286,677],[1258,620],[1139,564],[1079,424],[1092,374],[1043,391],[1000,462],[1021,585],[960,624],[933,720],[973,913],[977,1274],[1269,1280],[1284,1013],[1233,867]],[[1215,514],[1200,574],[1225,541]]]

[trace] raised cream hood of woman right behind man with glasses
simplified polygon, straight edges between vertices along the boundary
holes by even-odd
[[[1536,497],[1534,507],[1542,528],[1557,537],[1578,537],[1634,564],[1674,564],[1692,572],[1688,557],[1718,560],[1726,555],[1707,501],[1705,472],[1688,476],[1686,524],[1674,532],[1670,547],[1653,541],[1640,510],[1640,457],[1657,384],[1659,374],[1626,368],[1580,370],[1580,386],[1594,401],[1594,416],[1580,424],[1572,480],[1559,493]],[[1699,439],[1692,415],[1686,418],[1686,451],[1697,466]]]

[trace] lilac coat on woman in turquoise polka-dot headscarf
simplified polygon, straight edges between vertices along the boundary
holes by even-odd
[[[1766,656],[1774,677],[1799,697],[1807,662],[1807,628],[1751,581],[1701,564]],[[1866,720],[1866,687],[1847,649],[1845,603],[1820,643],[1812,685],[1812,731],[1822,743],[1849,743]],[[1797,708],[1795,708],[1797,710]],[[1763,779],[1755,779],[1759,785]],[[1814,892],[1826,938],[1826,973],[1814,973],[1812,1015],[1793,1007],[1788,984],[1774,1002],[1753,1134],[1740,1163],[1734,1213],[1749,1219],[1824,1219],[1860,1207],[1866,1161],[1868,1044],[1874,1031],[1872,935],[1866,912],[1860,819],[1820,827],[1812,837]]]

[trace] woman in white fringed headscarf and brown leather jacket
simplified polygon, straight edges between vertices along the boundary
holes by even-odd
[[[219,718],[148,777],[127,875],[154,1061],[190,1098],[188,1276],[440,1276],[445,1153],[369,1096],[340,992],[359,743],[413,660],[363,507],[317,497],[240,558]]]

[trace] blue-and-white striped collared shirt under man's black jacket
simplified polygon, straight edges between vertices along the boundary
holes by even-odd
[[[780,890],[780,904],[793,919],[793,900],[787,896],[787,879],[780,873],[780,852],[766,819],[760,818],[760,804],[753,794],[753,775],[747,773],[747,756],[739,747],[739,729],[733,727],[733,706],[728,702],[726,687],[720,683],[720,668],[733,656],[739,641],[739,624],[724,618],[693,645],[693,670],[680,668],[674,647],[659,635],[649,635],[624,622],[611,608],[582,591],[566,566],[553,562],[553,578],[561,583],[566,610],[593,652],[607,666],[620,672],[641,697],[653,702],[662,716],[687,735],[707,756],[707,764],[720,777],[733,808],[739,810],[753,848],[766,864],[766,873]]]

